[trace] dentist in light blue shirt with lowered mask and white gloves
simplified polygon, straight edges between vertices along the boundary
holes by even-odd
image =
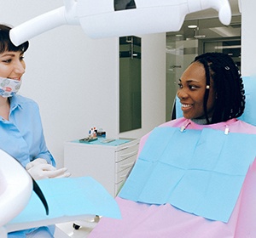
[[[44,139],[38,105],[18,95],[26,64],[28,42],[9,39],[9,26],[0,25],[0,148],[20,161],[32,178],[68,177],[67,168],[55,168]],[[54,226],[9,233],[8,237],[53,237]]]

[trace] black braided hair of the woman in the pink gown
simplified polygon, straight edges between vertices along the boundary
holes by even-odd
[[[226,122],[242,115],[245,108],[245,95],[240,71],[229,55],[223,53],[206,53],[195,57],[193,62],[200,62],[206,71],[207,85],[213,81],[217,99],[214,105],[212,121],[207,115],[209,88],[204,96],[204,112],[208,124]]]

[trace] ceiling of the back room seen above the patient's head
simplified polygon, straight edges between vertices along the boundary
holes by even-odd
[[[180,31],[167,32],[166,36],[173,39],[186,40],[189,38],[220,38],[241,36],[241,13],[238,7],[238,0],[229,0],[232,12],[230,26],[224,26],[218,20],[218,12],[214,9],[207,9],[193,14],[188,14]],[[196,25],[198,28],[189,29],[189,25]]]

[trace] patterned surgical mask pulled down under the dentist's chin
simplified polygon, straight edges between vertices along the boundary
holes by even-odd
[[[0,77],[0,96],[9,98],[17,94],[20,89],[21,80]]]

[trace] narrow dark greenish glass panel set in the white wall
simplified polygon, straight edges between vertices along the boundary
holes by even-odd
[[[142,127],[141,38],[119,37],[119,133]]]

